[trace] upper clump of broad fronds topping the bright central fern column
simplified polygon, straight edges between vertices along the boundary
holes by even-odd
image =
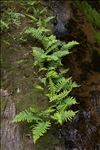
[[[65,42],[61,42],[56,39],[54,35],[47,36],[48,29],[42,28],[29,28],[26,29],[26,34],[30,34],[33,38],[38,39],[43,45],[44,49],[33,47],[33,56],[35,59],[34,65],[42,66],[43,62],[49,62],[49,66],[57,66],[61,64],[61,58],[68,55],[69,49],[71,49],[74,45],[77,45],[78,42],[72,41],[68,44]],[[60,48],[59,48],[60,46]]]

